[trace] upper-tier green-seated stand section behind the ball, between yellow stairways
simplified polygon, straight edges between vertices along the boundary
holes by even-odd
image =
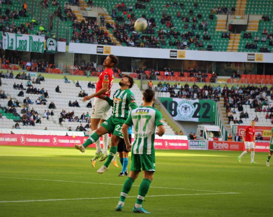
[[[190,50],[203,50],[204,48],[204,50],[207,50],[207,46],[211,44],[213,51],[226,51],[229,37],[221,38],[223,32],[215,32],[217,17],[215,16],[216,9],[214,10],[212,8],[215,8],[215,5],[219,5],[221,7],[226,6],[230,9],[232,5],[235,5],[235,2],[236,1],[234,0],[229,1],[228,3],[223,1],[199,1],[198,6],[194,7],[195,1],[187,1],[184,2],[184,8],[182,9],[180,8],[180,5],[177,5],[177,7],[174,5],[167,6],[167,1],[145,2],[145,6],[143,6],[143,3],[137,3],[137,6],[135,5],[135,2],[131,0],[124,1],[123,6],[119,6],[120,2],[117,1],[96,1],[99,6],[107,8],[108,14],[111,15],[112,18],[116,21],[115,24],[106,23],[106,27],[110,31],[109,34],[115,35],[117,40],[119,40],[123,46],[170,49],[178,48]],[[178,2],[178,4],[180,4],[180,2]],[[132,5],[132,9],[129,8],[130,5]],[[153,12],[151,10],[151,7],[153,7]],[[192,15],[190,15],[191,9],[193,11]],[[187,22],[187,29],[184,28],[184,24],[186,22],[182,21],[182,19],[177,15],[177,11],[180,11],[181,18],[182,16],[185,16],[185,19],[189,19],[189,21]],[[162,13],[166,15],[166,17],[164,18],[164,22],[161,22]],[[201,17],[197,18],[197,15],[199,13]],[[217,14],[219,13],[217,12]],[[224,12],[221,11],[221,13]],[[139,34],[134,32],[133,20],[140,18],[141,16],[143,16],[143,14],[145,14],[146,18],[151,23],[151,26],[148,27],[145,32]],[[213,15],[212,20],[209,18],[209,15],[211,14]],[[197,20],[194,21],[194,18],[196,18]],[[173,28],[171,30],[166,26],[167,21],[169,21],[170,24],[173,25]],[[155,24],[153,24],[153,22]],[[202,25],[199,28],[201,22]],[[196,27],[192,27],[194,23]],[[183,33],[185,35],[183,35]],[[206,34],[205,37],[204,34]],[[183,35],[182,38],[181,35]],[[208,35],[209,38],[206,37]],[[91,42],[87,40],[87,43],[93,43],[93,37],[94,34],[91,33],[89,35],[89,39],[91,38]],[[192,40],[190,40],[190,38],[192,38]],[[196,39],[198,40],[197,43],[195,43]],[[86,42],[86,40],[82,39],[75,40],[75,38],[72,38],[72,40],[74,42]],[[97,43],[97,41],[98,40],[96,39],[95,43]],[[184,41],[186,44],[183,45]],[[111,42],[105,43],[109,44]]]

